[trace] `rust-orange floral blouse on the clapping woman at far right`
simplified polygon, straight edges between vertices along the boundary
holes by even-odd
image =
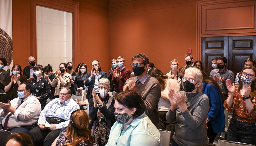
[[[240,91],[237,94],[238,86],[236,86],[236,90],[234,93],[233,98],[233,105],[232,108],[229,108],[227,105],[227,100],[224,102],[224,108],[227,109],[229,112],[233,112],[232,118],[241,122],[247,122],[247,123],[254,123],[256,120],[256,92],[255,96],[253,97],[252,104],[253,109],[251,113],[248,113],[248,110],[245,105],[245,101],[243,100],[243,96],[241,95]],[[228,93],[229,95],[230,93]]]

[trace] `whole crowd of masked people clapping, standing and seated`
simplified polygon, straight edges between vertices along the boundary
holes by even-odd
[[[31,56],[23,73],[15,64],[10,75],[0,58],[0,92],[5,93],[0,94],[0,129],[17,133],[7,145],[161,146],[162,129],[171,131],[172,146],[200,146],[224,132],[227,110],[233,113],[227,140],[256,145],[255,61],[246,59],[236,77],[225,57],[212,59],[209,75],[191,55],[185,62],[179,68],[173,59],[165,74],[146,55],[136,54],[131,72],[119,56],[107,75],[99,60],[91,68],[60,63],[54,71]],[[79,109],[87,100],[88,113]]]

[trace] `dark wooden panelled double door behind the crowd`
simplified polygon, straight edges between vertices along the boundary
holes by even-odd
[[[224,56],[228,63],[226,68],[235,75],[244,67],[247,58],[256,59],[256,36],[225,36],[202,38],[202,63],[204,71],[209,75],[212,58]]]

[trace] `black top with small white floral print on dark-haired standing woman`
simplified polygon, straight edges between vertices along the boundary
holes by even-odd
[[[50,88],[50,83],[47,79],[44,77],[41,77],[38,82],[35,79],[32,79],[30,81],[30,84],[32,86],[31,93],[34,96],[38,96],[40,99],[38,99],[41,103],[42,110],[44,109],[46,105],[47,98],[51,94],[51,88]]]

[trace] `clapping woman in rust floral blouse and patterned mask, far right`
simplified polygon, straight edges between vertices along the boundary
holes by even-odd
[[[230,80],[226,82],[229,94],[224,107],[233,113],[227,132],[229,141],[256,145],[255,75],[256,68],[248,65],[242,69],[239,86]]]

